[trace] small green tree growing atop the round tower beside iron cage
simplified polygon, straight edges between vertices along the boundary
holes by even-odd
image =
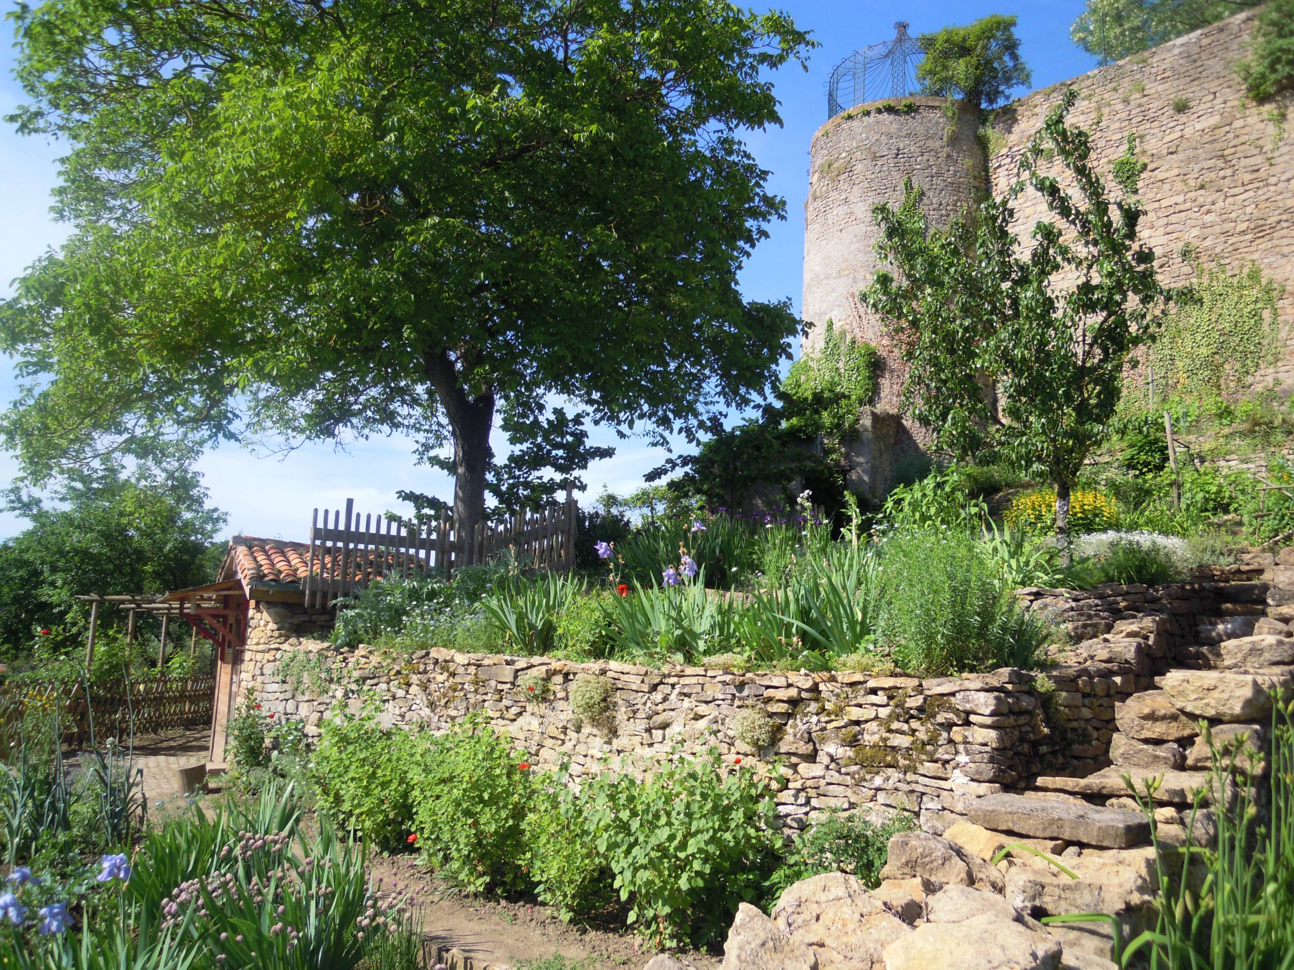
[[[1020,59],[1016,18],[990,14],[965,27],[945,27],[916,39],[925,57],[916,66],[921,93],[960,97],[980,109],[1027,88],[1033,75]]]

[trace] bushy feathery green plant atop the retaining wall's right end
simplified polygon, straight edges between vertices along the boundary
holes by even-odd
[[[964,533],[886,539],[876,579],[877,647],[908,674],[1031,667],[1051,632]]]

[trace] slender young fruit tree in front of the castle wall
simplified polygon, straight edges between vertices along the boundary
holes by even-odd
[[[912,185],[898,208],[876,206],[877,252],[894,272],[861,294],[902,348],[914,418],[959,458],[991,455],[1051,480],[1066,555],[1070,489],[1109,433],[1163,297],[1154,253],[1137,242],[1145,163],[1130,138],[1112,194],[1090,135],[1065,123],[1077,97],[1068,91],[1048,114],[1021,155],[1022,178],[946,230],[928,225]],[[1018,239],[1013,203],[1026,188],[1051,219]]]

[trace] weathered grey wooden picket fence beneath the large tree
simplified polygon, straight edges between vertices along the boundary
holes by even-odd
[[[450,573],[512,550],[528,568],[573,569],[578,507],[573,498],[537,512],[518,512],[506,525],[480,523],[458,529],[449,516],[406,523],[355,511],[314,510],[305,578],[307,608],[322,608],[383,577],[439,570]],[[331,521],[330,521],[331,520]]]

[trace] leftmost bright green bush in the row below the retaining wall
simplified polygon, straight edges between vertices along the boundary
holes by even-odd
[[[400,848],[413,819],[418,737],[383,729],[371,713],[338,713],[321,729],[311,758],[320,811],[377,848]]]

